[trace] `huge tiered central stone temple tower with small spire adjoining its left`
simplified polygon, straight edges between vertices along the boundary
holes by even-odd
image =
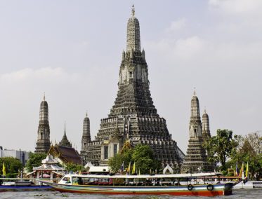
[[[90,138],[89,118],[84,118],[81,157],[84,163],[107,165],[124,144],[148,144],[163,166],[181,167],[185,157],[157,114],[150,94],[145,50],[140,48],[140,26],[132,8],[127,23],[126,51],[119,67],[117,97],[110,114],[100,121],[100,130]]]

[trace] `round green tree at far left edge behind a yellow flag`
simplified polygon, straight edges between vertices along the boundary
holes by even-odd
[[[22,170],[22,163],[20,160],[13,157],[0,158],[0,173],[2,174],[3,162],[6,167],[6,177],[17,177],[20,170]]]

